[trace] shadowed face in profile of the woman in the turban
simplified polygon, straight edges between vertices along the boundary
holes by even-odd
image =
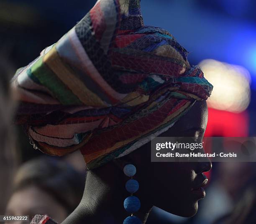
[[[188,113],[180,118],[161,137],[195,137],[202,141],[207,125],[206,101],[197,101]],[[146,144],[142,151],[150,145]],[[145,152],[143,156],[145,157]],[[136,156],[137,157],[137,156]],[[141,157],[141,156],[139,156]],[[139,158],[137,159],[145,159]],[[147,158],[149,161],[150,158]],[[139,164],[139,161],[138,161]],[[207,183],[203,172],[209,171],[211,162],[149,162],[138,167],[140,186],[157,206],[172,214],[193,216],[198,209],[197,202],[205,197],[201,189]],[[145,175],[146,174],[146,175]],[[150,186],[150,187],[149,187]],[[143,192],[141,192],[143,194]]]

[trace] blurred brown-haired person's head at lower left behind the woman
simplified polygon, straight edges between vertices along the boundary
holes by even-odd
[[[82,199],[84,182],[84,174],[63,160],[42,156],[28,161],[13,179],[6,214],[32,218],[40,212],[61,222]]]

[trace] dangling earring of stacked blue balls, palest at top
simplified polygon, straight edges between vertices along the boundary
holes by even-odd
[[[136,174],[136,167],[133,164],[128,164],[123,168],[123,172],[126,176],[131,177],[131,179],[125,184],[125,189],[131,193],[131,196],[127,197],[123,202],[125,210],[131,213],[131,216],[128,216],[123,221],[123,224],[142,224],[141,220],[137,216],[133,215],[134,212],[141,208],[140,199],[133,196],[133,194],[139,189],[138,181],[133,179],[133,176]]]

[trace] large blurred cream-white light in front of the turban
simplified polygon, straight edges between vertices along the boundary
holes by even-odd
[[[212,59],[199,65],[214,86],[207,100],[209,107],[234,113],[246,110],[251,100],[251,75],[246,68]]]

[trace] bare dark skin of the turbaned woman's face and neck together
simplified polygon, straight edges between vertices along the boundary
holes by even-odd
[[[202,139],[207,125],[206,101],[197,101],[188,113],[160,136],[194,136]],[[204,180],[203,172],[211,169],[207,162],[151,162],[150,143],[131,154],[115,159],[102,167],[88,171],[84,196],[77,209],[62,224],[121,224],[129,216],[123,208],[129,196],[123,173],[126,164],[134,164],[140,189],[135,193],[141,209],[134,215],[146,223],[152,206],[179,216],[196,214],[202,198],[192,189]]]

